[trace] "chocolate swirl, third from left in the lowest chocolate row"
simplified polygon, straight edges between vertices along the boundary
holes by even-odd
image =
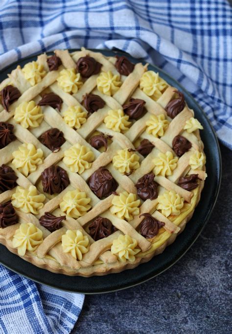
[[[93,240],[97,241],[109,237],[113,232],[116,231],[116,228],[112,222],[103,217],[96,217],[89,226],[90,236]]]

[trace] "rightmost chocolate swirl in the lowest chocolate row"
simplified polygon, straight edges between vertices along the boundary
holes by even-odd
[[[154,238],[158,235],[159,229],[165,225],[150,214],[142,214],[139,217],[145,217],[141,222],[140,233],[144,238]]]

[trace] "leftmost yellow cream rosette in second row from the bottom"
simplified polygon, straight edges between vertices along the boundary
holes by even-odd
[[[16,192],[12,195],[12,205],[26,214],[31,213],[38,215],[39,210],[43,208],[46,197],[44,194],[38,194],[35,186],[27,189],[17,187]]]

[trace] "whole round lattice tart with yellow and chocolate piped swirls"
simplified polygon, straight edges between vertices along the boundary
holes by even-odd
[[[0,242],[11,252],[55,273],[105,275],[184,230],[207,176],[202,126],[158,73],[56,50],[0,91]]]

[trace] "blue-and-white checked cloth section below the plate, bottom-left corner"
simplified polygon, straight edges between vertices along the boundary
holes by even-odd
[[[84,295],[36,284],[0,265],[0,333],[68,334]]]

